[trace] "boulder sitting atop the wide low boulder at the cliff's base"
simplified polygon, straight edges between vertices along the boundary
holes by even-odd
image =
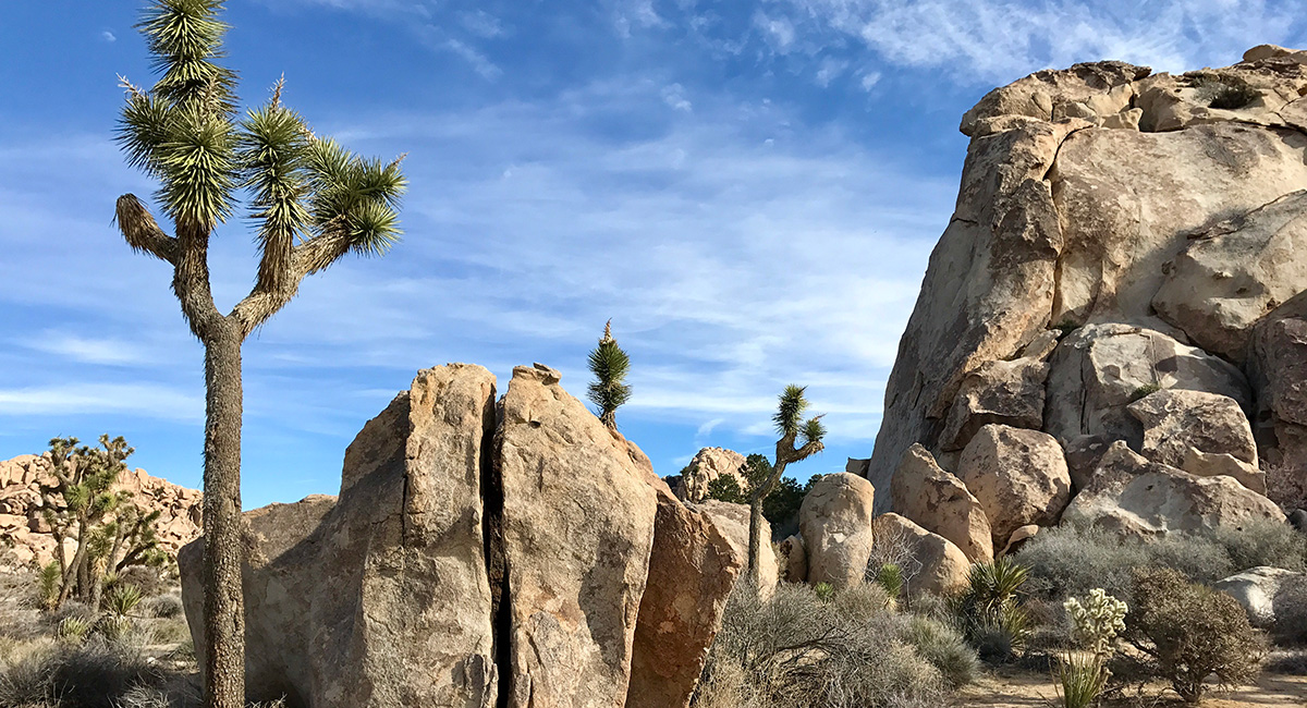
[[[1167,389],[1134,401],[1127,410],[1144,425],[1140,453],[1154,462],[1184,468],[1189,451],[1197,451],[1230,455],[1257,466],[1252,427],[1229,396]]]

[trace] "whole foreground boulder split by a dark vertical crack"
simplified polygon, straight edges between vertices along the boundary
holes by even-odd
[[[481,367],[420,372],[339,499],[246,520],[248,694],[307,708],[684,707],[744,564],[540,364],[498,406]],[[203,543],[179,566],[203,647]]]

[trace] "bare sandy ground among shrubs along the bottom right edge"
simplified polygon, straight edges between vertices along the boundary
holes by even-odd
[[[1187,705],[1165,684],[1150,684],[1145,698],[1103,701],[1104,708],[1153,708]],[[968,686],[958,696],[958,705],[987,708],[1050,708],[1057,705],[1050,677],[1022,669],[1000,669]],[[1202,708],[1235,707],[1304,707],[1307,677],[1264,673],[1255,686],[1221,692],[1213,688],[1200,704]]]

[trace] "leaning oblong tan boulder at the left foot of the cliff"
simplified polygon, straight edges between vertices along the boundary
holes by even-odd
[[[903,455],[890,485],[894,511],[948,538],[974,562],[993,560],[989,520],[980,502],[957,477],[940,469],[921,445]]]

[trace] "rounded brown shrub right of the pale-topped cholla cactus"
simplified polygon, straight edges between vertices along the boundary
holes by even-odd
[[[1188,581],[1170,568],[1140,570],[1127,632],[1187,701],[1197,701],[1216,675],[1236,686],[1257,675],[1264,647],[1230,596]]]

